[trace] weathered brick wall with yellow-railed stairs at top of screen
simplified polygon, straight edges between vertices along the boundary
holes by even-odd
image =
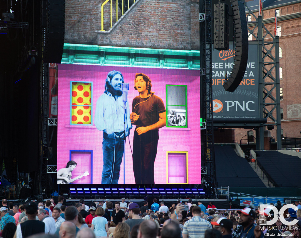
[[[66,0],[65,43],[199,50],[199,0],[136,0],[123,16],[118,8],[117,23],[112,1],[112,28],[108,2],[101,31],[104,2]]]

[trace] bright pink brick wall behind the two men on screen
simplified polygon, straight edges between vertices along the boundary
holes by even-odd
[[[159,142],[154,167],[156,184],[166,184],[166,151],[188,151],[188,182],[201,182],[200,174],[200,79],[197,70],[174,70],[154,68],[129,68],[90,65],[60,64],[58,70],[58,139],[57,170],[66,167],[70,150],[93,151],[93,184],[101,184],[103,166],[103,132],[89,125],[70,125],[70,81],[93,82],[93,121],[96,102],[104,93],[107,73],[118,70],[129,83],[128,101],[132,111],[132,99],[138,96],[134,89],[135,73],[147,74],[152,80],[152,91],[162,98],[166,107],[166,84],[187,85],[188,128],[159,129]],[[135,184],[132,155],[135,125],[126,140],[126,184]],[[119,184],[123,183],[123,162],[121,163]]]

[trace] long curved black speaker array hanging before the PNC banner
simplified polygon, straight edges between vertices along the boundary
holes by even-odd
[[[225,90],[228,92],[234,92],[243,79],[247,68],[249,53],[248,28],[244,2],[231,0],[231,6],[233,12],[235,53],[233,69],[229,78],[223,84]]]

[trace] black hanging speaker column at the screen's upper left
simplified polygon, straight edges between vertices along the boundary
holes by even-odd
[[[43,15],[42,15],[43,16]],[[42,19],[43,23],[43,19]],[[61,63],[65,38],[65,0],[48,0],[43,60]]]

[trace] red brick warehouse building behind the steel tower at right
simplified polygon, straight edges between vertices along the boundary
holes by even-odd
[[[256,1],[252,1],[256,2]],[[251,3],[252,3],[251,2]],[[249,2],[248,2],[249,4]],[[256,10],[254,10],[256,11]],[[301,1],[272,2],[263,4],[263,22],[265,27],[274,35],[275,14],[278,22],[280,88],[281,99],[281,131],[283,137],[300,137],[301,131]],[[258,10],[255,12],[257,17]],[[254,17],[252,16],[254,21]],[[280,33],[280,34],[279,34]],[[254,38],[253,38],[254,40]],[[281,74],[282,73],[282,74]],[[281,92],[280,92],[281,93]],[[269,123],[270,119],[268,119]],[[274,122],[270,122],[271,125]],[[275,124],[274,124],[275,125]],[[267,130],[267,128],[265,128]],[[252,129],[235,129],[235,140],[240,140],[247,134],[256,135]],[[276,138],[276,126],[271,131],[271,137]]]

